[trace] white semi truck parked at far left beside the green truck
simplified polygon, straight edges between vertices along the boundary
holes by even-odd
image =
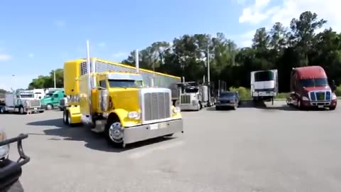
[[[0,113],[18,112],[19,114],[44,112],[40,100],[35,98],[32,90],[19,90],[6,93],[4,105],[0,105]]]

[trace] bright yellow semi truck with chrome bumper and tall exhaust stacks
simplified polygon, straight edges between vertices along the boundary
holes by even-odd
[[[85,124],[94,132],[104,132],[115,147],[183,132],[180,108],[173,106],[171,90],[147,87],[137,57],[136,72],[110,70],[103,61],[90,58],[87,42],[86,59],[64,63],[65,95],[69,97],[63,111],[65,124]]]

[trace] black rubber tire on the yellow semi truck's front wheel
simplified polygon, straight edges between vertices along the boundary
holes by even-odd
[[[113,127],[112,127],[113,126]],[[110,131],[110,128],[117,128],[117,129],[122,129],[121,127],[121,122],[119,119],[109,119],[107,124],[105,125],[105,137],[107,138],[108,143],[111,146],[114,146],[114,148],[123,148],[123,133],[121,133],[121,139],[115,139],[113,132],[117,132],[118,130],[115,131]]]

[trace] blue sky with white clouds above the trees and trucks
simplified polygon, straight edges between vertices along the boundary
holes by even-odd
[[[341,31],[337,0],[131,0],[0,2],[0,88],[28,87],[65,60],[91,55],[121,62],[131,50],[183,34],[222,32],[250,46],[257,28],[288,26],[313,11]]]

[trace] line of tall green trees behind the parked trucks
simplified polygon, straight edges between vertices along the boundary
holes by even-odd
[[[330,80],[339,85],[341,33],[332,28],[317,33],[325,23],[327,21],[318,18],[318,14],[305,11],[298,18],[293,18],[288,26],[277,22],[270,29],[257,29],[251,47],[246,48],[238,48],[224,33],[215,36],[186,34],[174,38],[171,43],[158,41],[140,50],[139,65],[161,73],[184,76],[186,81],[202,80],[204,75],[207,77],[209,56],[210,80],[222,80],[227,87],[249,87],[253,70],[278,69],[280,92],[289,91],[292,68],[320,65]],[[121,63],[135,66],[135,51],[131,51]],[[63,70],[59,71],[63,74]],[[59,77],[58,85],[63,86],[63,75]],[[29,87],[51,85],[50,74],[34,79]]]

